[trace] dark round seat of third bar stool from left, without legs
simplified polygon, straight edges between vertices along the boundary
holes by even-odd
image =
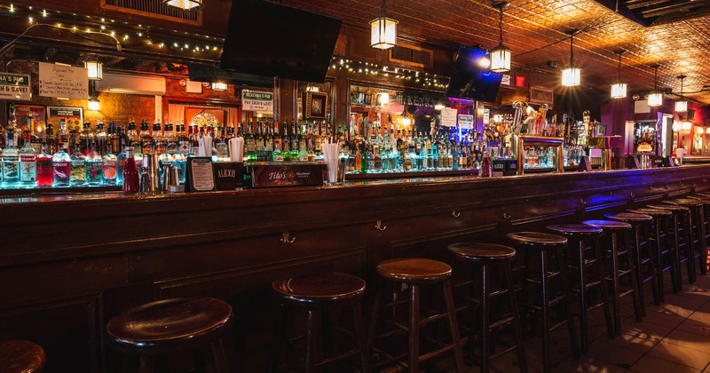
[[[352,274],[328,273],[277,280],[272,289],[299,306],[338,306],[361,297],[365,281]]]

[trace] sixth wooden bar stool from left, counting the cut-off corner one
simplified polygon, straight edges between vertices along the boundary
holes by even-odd
[[[567,274],[564,266],[564,258],[562,250],[567,246],[567,239],[556,234],[544,234],[538,232],[516,232],[507,234],[509,242],[512,242],[516,248],[521,248],[525,252],[525,282],[523,284],[523,295],[525,303],[523,306],[533,309],[533,311],[542,312],[542,353],[543,363],[546,372],[552,369],[550,361],[550,336],[549,333],[567,324],[567,329],[570,335],[570,343],[572,344],[572,356],[575,359],[580,358],[580,346],[577,345],[577,335],[574,329],[574,319],[572,316],[572,301],[570,298],[570,287],[567,283]],[[540,272],[533,274],[531,270],[531,259],[533,254],[540,255]],[[556,262],[557,270],[550,270],[550,257],[553,257]],[[556,278],[562,286],[562,294],[552,294],[550,289],[550,281]],[[531,283],[539,283],[541,287],[541,305],[535,306],[528,304],[527,296],[530,294],[528,290]],[[551,307],[557,306],[564,308],[565,318],[555,324],[551,324]]]

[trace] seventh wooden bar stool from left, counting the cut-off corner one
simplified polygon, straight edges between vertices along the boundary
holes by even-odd
[[[604,309],[604,320],[606,321],[606,331],[610,338],[614,337],[614,323],[611,320],[611,306],[605,283],[604,267],[602,266],[602,250],[599,247],[599,238],[604,234],[602,228],[588,226],[586,224],[565,224],[558,226],[548,226],[548,229],[556,234],[564,235],[572,244],[577,247],[577,262],[572,266],[576,270],[578,280],[577,287],[573,289],[580,294],[580,341],[582,353],[589,351],[588,337],[588,312],[598,307]],[[592,255],[588,255],[588,247],[591,246]],[[567,250],[570,252],[570,250]],[[570,257],[570,256],[568,256]],[[591,279],[590,274],[596,278]],[[590,290],[597,290],[599,300],[589,304]]]

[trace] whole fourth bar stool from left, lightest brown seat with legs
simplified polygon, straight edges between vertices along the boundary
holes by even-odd
[[[382,335],[375,336],[377,331],[377,321],[381,318],[380,308],[385,300],[387,286],[381,287],[377,298],[375,298],[375,311],[373,313],[372,323],[370,324],[370,333],[368,346],[373,347],[375,338],[392,337],[400,332],[406,332],[408,337],[407,362],[399,361],[397,356],[386,351],[379,351],[391,361],[397,362],[399,365],[408,369],[409,372],[419,372],[419,364],[423,361],[429,361],[432,357],[438,356],[441,353],[454,350],[454,363],[457,372],[464,370],[463,353],[461,353],[461,337],[459,337],[459,326],[456,322],[456,308],[454,306],[454,296],[451,292],[451,266],[438,260],[425,258],[396,258],[385,260],[377,265],[377,274],[382,276],[388,282],[406,284],[409,288],[408,300],[408,325],[402,325],[397,321],[389,321],[394,324],[395,330],[390,330]],[[422,285],[426,284],[441,284],[446,301],[446,312],[435,313],[425,318],[420,318],[420,306],[422,303],[420,290]],[[420,329],[429,324],[431,321],[447,318],[449,321],[449,330],[451,332],[451,344],[445,344],[438,349],[429,353],[420,355]]]

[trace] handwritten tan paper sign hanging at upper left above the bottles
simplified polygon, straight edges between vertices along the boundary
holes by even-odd
[[[83,67],[39,63],[39,95],[89,99],[89,73]]]

